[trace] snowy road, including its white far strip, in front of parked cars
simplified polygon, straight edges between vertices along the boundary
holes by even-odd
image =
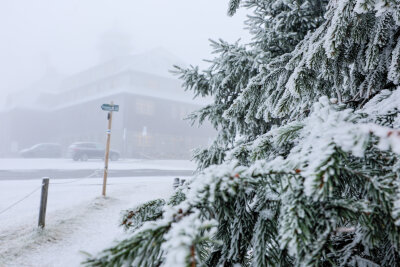
[[[102,160],[76,162],[71,159],[0,159],[0,180],[29,180],[50,177],[74,179],[103,170]],[[187,160],[124,159],[109,163],[109,177],[190,176],[194,163]],[[100,177],[98,175],[94,177]]]

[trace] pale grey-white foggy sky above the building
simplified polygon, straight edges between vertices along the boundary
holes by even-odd
[[[211,58],[208,39],[250,39],[246,11],[228,17],[228,0],[2,0],[0,103],[49,67],[70,75],[99,63],[107,31],[131,39],[132,53],[164,47],[188,64]]]

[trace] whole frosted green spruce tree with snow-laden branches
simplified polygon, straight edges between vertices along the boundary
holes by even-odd
[[[251,43],[175,70],[214,99],[191,115],[218,130],[198,173],[85,264],[400,266],[400,2],[240,6]]]

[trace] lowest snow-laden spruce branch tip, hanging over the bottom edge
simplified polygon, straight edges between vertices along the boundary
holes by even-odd
[[[211,239],[214,228],[215,222],[200,220],[197,211],[169,207],[163,219],[144,223],[131,238],[103,251],[97,258],[88,259],[85,265],[195,266],[204,247],[215,242]]]

